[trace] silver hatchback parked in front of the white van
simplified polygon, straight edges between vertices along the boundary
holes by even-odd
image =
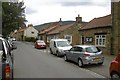
[[[80,67],[85,64],[103,64],[104,56],[102,51],[93,45],[75,45],[69,51],[66,51],[64,60],[71,60]]]

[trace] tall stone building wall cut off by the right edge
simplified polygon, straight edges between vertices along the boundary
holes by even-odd
[[[112,54],[120,53],[120,1],[111,3],[112,12]]]

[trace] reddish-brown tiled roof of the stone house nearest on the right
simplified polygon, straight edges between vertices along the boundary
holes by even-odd
[[[86,24],[84,27],[82,27],[80,30],[107,27],[107,26],[112,26],[112,16],[111,15],[94,18],[88,24]]]

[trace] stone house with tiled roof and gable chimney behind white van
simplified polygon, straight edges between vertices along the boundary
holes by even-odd
[[[61,23],[61,26],[58,26],[58,28],[49,32],[47,34],[48,39],[50,40],[53,38],[66,38],[72,45],[79,44],[78,29],[84,24],[85,22],[82,22],[82,17],[78,15],[74,23],[67,25],[62,25]]]

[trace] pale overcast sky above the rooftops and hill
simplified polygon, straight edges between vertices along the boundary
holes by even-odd
[[[24,0],[28,24],[72,20],[80,15],[89,22],[93,18],[111,14],[111,0]]]

